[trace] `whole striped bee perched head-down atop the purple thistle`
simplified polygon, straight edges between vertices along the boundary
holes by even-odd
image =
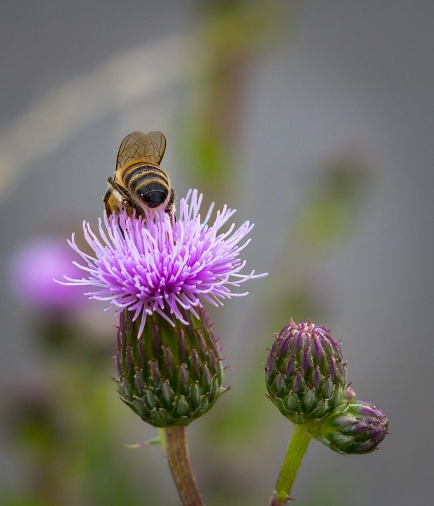
[[[167,172],[160,167],[165,153],[166,138],[160,131],[128,134],[117,153],[114,179],[108,178],[103,197],[107,214],[133,209],[144,216],[146,209],[164,207],[173,219],[174,190]]]

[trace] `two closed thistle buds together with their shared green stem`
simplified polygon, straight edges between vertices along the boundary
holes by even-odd
[[[371,403],[356,401],[346,384],[340,343],[311,320],[276,334],[267,356],[268,396],[295,424],[269,504],[283,506],[312,438],[343,454],[369,453],[383,441],[388,419]]]

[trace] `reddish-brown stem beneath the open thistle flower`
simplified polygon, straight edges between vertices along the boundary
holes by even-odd
[[[163,434],[162,434],[163,433]],[[167,463],[183,506],[203,506],[203,500],[191,469],[185,427],[165,427],[160,431]]]

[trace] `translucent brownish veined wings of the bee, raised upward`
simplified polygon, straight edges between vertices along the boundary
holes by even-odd
[[[116,170],[131,162],[151,162],[159,165],[165,149],[166,138],[160,131],[151,131],[148,134],[134,131],[120,143]]]

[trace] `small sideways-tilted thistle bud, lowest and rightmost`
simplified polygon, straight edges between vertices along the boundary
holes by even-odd
[[[388,434],[388,419],[369,402],[349,401],[312,424],[309,434],[344,455],[369,453]]]

